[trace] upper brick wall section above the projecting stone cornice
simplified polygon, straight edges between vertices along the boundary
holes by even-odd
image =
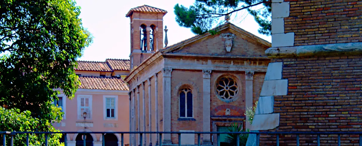
[[[294,46],[362,42],[361,0],[287,1],[284,31],[294,32]]]

